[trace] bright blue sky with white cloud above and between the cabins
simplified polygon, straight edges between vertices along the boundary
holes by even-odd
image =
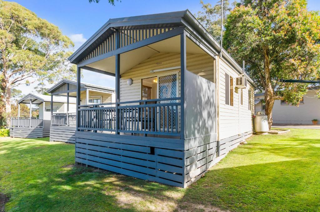
[[[204,3],[216,4],[218,0],[203,0]],[[122,0],[115,6],[108,0],[100,0],[99,4],[88,0],[16,0],[18,4],[35,12],[40,18],[58,26],[63,34],[75,43],[75,49],[91,37],[110,18],[172,12],[188,9],[192,13],[201,10],[200,0]],[[320,0],[308,0],[309,10],[320,10]],[[84,72],[85,82],[115,87],[114,78]],[[18,89],[27,94],[33,85],[20,86]]]

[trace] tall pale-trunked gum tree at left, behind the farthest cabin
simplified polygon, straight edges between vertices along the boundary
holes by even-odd
[[[75,75],[67,60],[73,46],[57,26],[17,3],[0,0],[0,91],[7,125],[13,88]]]

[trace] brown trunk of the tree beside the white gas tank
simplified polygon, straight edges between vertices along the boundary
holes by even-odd
[[[264,90],[264,99],[266,102],[266,115],[268,116],[268,124],[269,129],[272,125],[272,108],[275,102],[273,98],[273,89],[271,86],[271,79],[270,79],[270,60],[269,60],[269,48],[263,48],[263,68],[265,74],[265,90]]]

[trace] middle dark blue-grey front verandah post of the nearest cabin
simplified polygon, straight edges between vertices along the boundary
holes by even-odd
[[[116,31],[116,49],[119,48],[119,40],[118,40],[118,33]],[[118,111],[118,104],[120,102],[120,54],[116,54],[116,134],[119,134],[118,130],[119,127],[119,111]]]

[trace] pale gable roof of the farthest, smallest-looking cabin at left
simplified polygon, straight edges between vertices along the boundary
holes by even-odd
[[[41,104],[42,102],[51,102],[51,95],[42,95],[42,94],[33,94],[28,93],[21,99],[19,99],[18,103],[28,104],[30,99],[33,101],[32,104]],[[67,97],[61,96],[53,96],[53,102],[67,103]],[[69,103],[76,103],[76,98],[69,97]]]

